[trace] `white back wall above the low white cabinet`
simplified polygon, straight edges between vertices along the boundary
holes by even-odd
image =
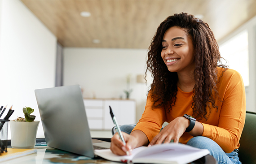
[[[137,83],[138,74],[146,70],[146,49],[64,48],[63,83],[79,84],[84,98],[125,98],[126,77],[131,76],[130,99],[137,103],[137,118],[146,105],[147,88]]]

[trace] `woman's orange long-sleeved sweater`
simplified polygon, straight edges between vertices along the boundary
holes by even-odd
[[[221,77],[223,70],[218,68],[217,91],[221,101],[216,100],[215,103],[219,109],[217,111],[213,108],[208,120],[202,119],[199,122],[203,124],[203,136],[211,138],[226,153],[230,153],[239,147],[239,139],[243,131],[246,111],[245,88],[243,79],[237,71],[227,69]],[[192,116],[192,95],[193,91],[184,92],[178,88],[175,105],[167,115],[163,108],[152,109],[153,102],[148,97],[145,111],[133,131],[141,130],[151,141],[159,134],[165,121],[171,122],[184,114]],[[185,132],[179,142],[185,144],[190,138],[193,136]]]

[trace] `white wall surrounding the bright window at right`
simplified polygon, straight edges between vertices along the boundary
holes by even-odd
[[[248,30],[248,54],[249,54],[249,83],[246,87],[246,110],[256,112],[256,17],[243,24],[232,34],[219,42],[219,45],[225,43],[243,30]],[[243,57],[243,56],[241,56]],[[238,59],[239,60],[239,59]]]

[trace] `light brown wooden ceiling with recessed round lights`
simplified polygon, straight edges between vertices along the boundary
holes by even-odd
[[[159,24],[181,12],[202,14],[220,41],[256,15],[256,0],[21,1],[64,47],[147,49]],[[91,16],[81,17],[83,11]]]

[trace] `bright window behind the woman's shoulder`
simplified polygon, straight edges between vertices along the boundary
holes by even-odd
[[[226,65],[242,75],[244,86],[249,86],[248,31],[243,30],[221,44],[220,53],[227,60]],[[224,60],[222,62],[225,64]]]

